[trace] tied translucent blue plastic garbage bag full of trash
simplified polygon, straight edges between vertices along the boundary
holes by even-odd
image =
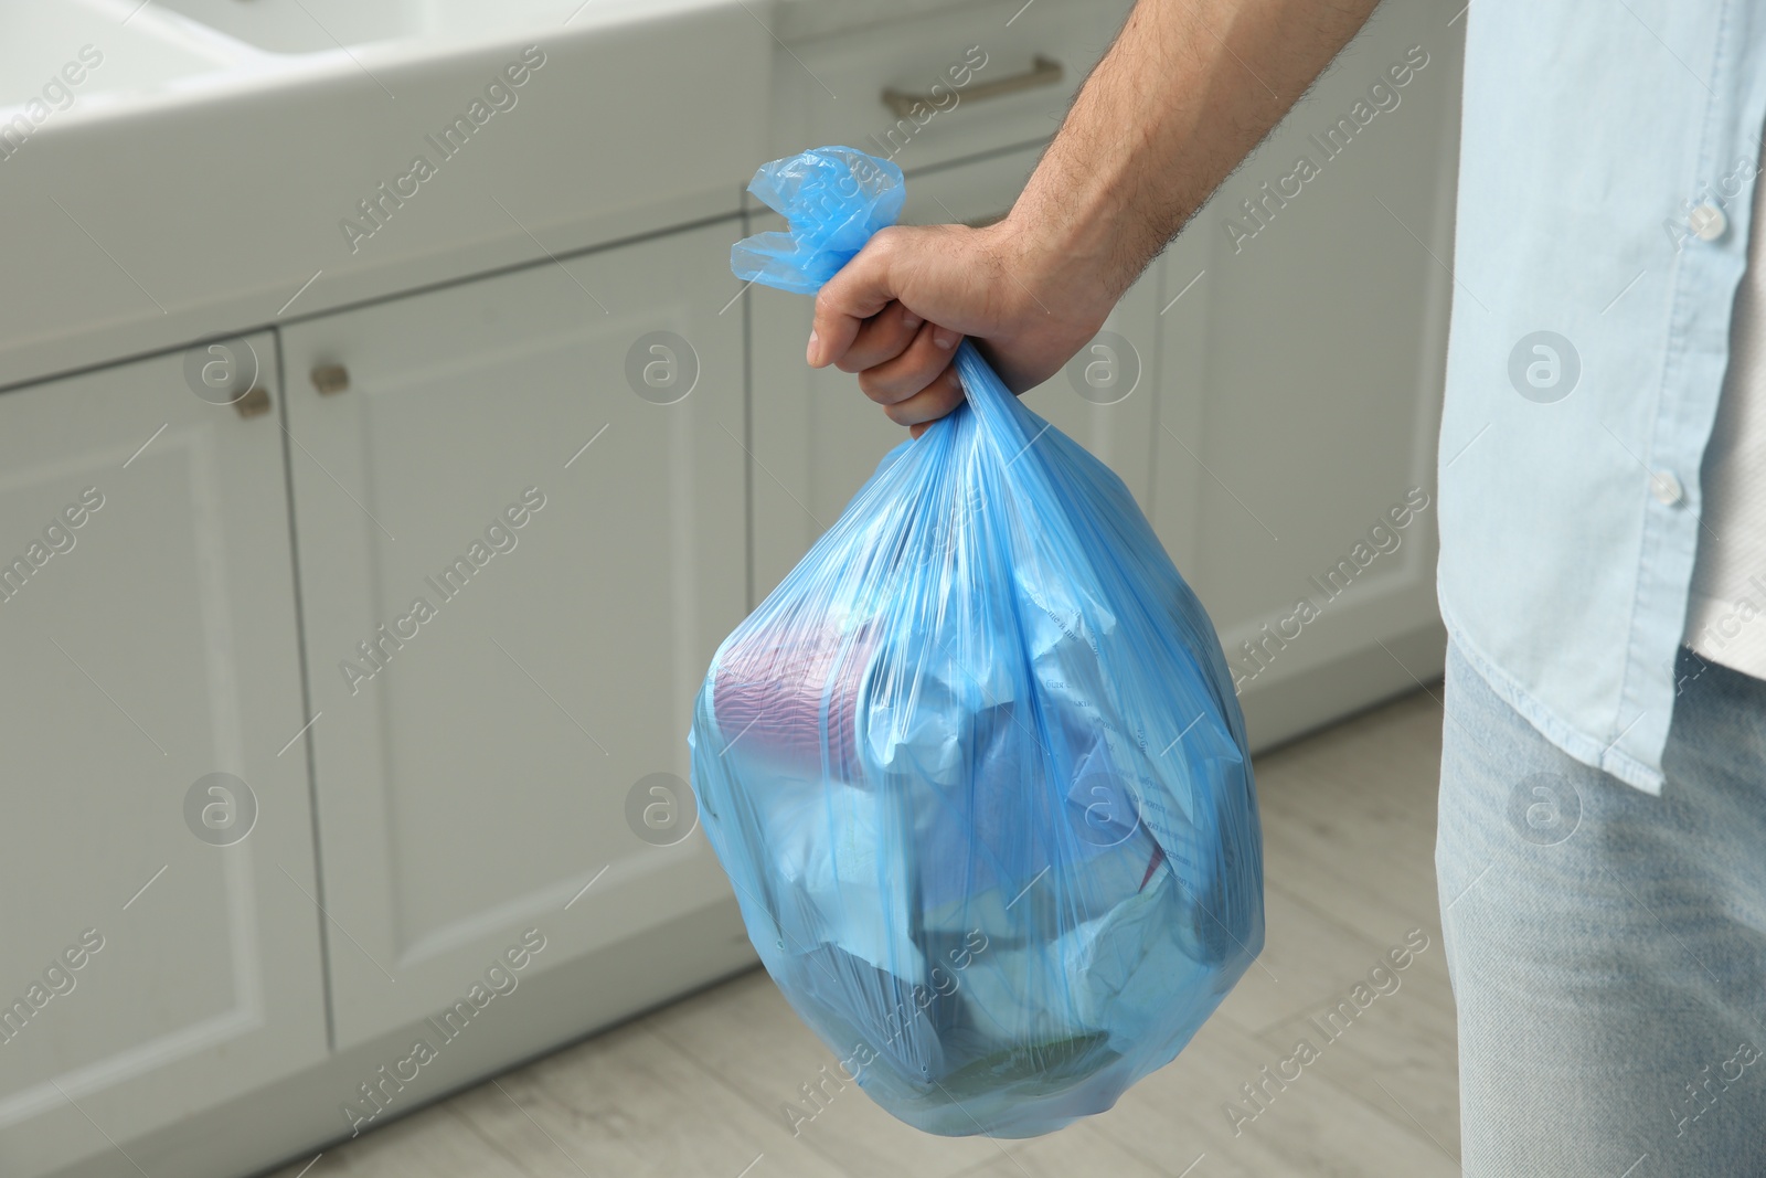
[[[736,276],[814,291],[902,177],[828,147],[751,191],[789,231]],[[1028,1137],[1213,1012],[1263,947],[1263,848],[1220,643],[1134,498],[968,341],[957,371],[966,404],[719,648],[687,740],[749,938],[844,1074]]]

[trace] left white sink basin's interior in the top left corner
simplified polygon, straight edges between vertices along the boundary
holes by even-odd
[[[129,5],[115,0],[0,5],[0,124],[14,129],[0,148],[28,138],[18,118],[42,125],[92,95],[152,90],[238,60],[237,49],[201,30],[124,23],[127,16]]]

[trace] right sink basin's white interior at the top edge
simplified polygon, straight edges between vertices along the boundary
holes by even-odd
[[[599,4],[600,0],[590,0]],[[563,25],[583,0],[152,0],[265,53]]]

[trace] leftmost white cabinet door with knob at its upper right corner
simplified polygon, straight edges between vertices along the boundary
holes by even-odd
[[[261,412],[180,353],[0,394],[9,1176],[325,1054],[274,337],[223,348]]]

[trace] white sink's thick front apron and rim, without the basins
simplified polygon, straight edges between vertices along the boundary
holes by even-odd
[[[0,286],[0,387],[738,214],[766,147],[765,4],[595,0],[556,34],[258,55],[81,95],[32,134],[28,166],[0,162],[9,201],[44,217],[42,233],[0,235],[0,270],[18,277]],[[496,132],[473,148],[484,164],[447,173],[385,240],[344,249],[337,217],[390,175],[383,161],[410,157],[426,113],[454,111],[535,42],[556,65],[551,97],[523,99],[528,131]],[[632,95],[680,141],[659,147],[645,120],[618,117]],[[500,187],[510,178],[523,182]],[[81,283],[55,279],[69,267]]]

